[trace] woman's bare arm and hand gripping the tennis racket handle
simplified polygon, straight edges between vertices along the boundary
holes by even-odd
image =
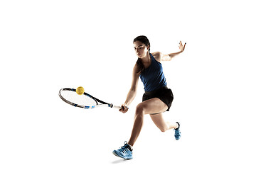
[[[129,89],[129,92],[127,94],[126,101],[122,105],[122,108],[119,110],[122,113],[126,113],[128,111],[127,106],[129,106],[130,103],[134,100],[136,94],[137,94],[137,86],[139,81],[139,73],[137,72],[138,66],[135,64],[134,69],[132,71],[132,86],[131,89]]]

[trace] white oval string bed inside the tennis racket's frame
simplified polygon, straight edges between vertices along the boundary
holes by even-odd
[[[78,95],[75,91],[61,91],[61,96],[67,101],[81,105],[81,106],[96,106],[97,103],[94,99],[84,94]]]

